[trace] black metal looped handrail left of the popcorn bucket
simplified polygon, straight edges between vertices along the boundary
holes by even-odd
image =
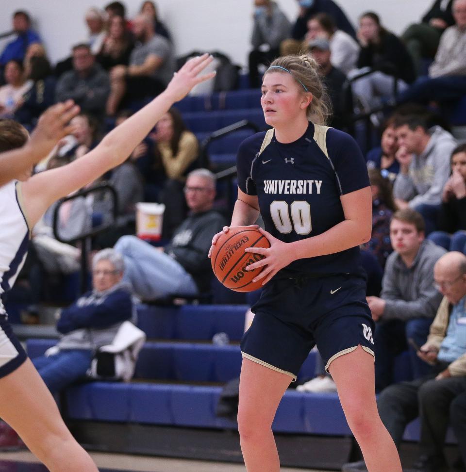
[[[59,212],[60,207],[63,203],[75,200],[76,198],[80,198],[87,195],[92,194],[100,194],[108,193],[110,195],[111,203],[112,203],[112,210],[110,212],[111,218],[106,218],[104,222],[94,228],[91,228],[89,231],[85,231],[84,233],[79,234],[77,237],[72,239],[62,238],[60,236],[60,229],[59,229]],[[62,198],[58,205],[55,207],[55,211],[53,213],[53,235],[55,238],[60,241],[61,243],[72,244],[77,241],[81,242],[81,293],[85,293],[87,291],[87,277],[88,277],[88,249],[89,249],[89,242],[93,236],[100,234],[102,231],[106,229],[112,228],[115,225],[116,217],[118,214],[118,195],[116,194],[115,189],[109,185],[108,183],[100,183],[88,189],[81,190],[73,195],[69,195],[65,198]]]

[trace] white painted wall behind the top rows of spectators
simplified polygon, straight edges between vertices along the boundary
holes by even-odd
[[[296,0],[277,0],[290,20],[298,12]],[[27,10],[41,34],[53,62],[67,57],[70,47],[86,34],[84,12],[104,6],[109,0],[0,0],[0,32],[11,29],[11,15]],[[432,0],[337,0],[354,25],[358,16],[371,9],[395,33],[416,22]],[[126,0],[128,16],[134,16],[142,1]],[[245,65],[250,49],[252,0],[157,0],[159,14],[173,34],[176,54],[193,49],[220,50],[237,64]],[[0,49],[5,41],[0,42]]]

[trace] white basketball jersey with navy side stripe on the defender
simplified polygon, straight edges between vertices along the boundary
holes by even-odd
[[[0,187],[0,297],[13,287],[28,251],[29,228],[21,201],[16,180]],[[0,314],[5,314],[1,298]]]

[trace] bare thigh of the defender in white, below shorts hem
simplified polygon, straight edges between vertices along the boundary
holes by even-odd
[[[29,359],[0,378],[0,417],[33,452],[51,438],[70,436],[50,391]]]

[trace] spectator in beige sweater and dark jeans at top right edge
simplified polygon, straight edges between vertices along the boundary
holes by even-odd
[[[429,76],[403,91],[398,103],[453,102],[466,94],[466,0],[454,0],[452,11],[455,25],[442,34]]]

